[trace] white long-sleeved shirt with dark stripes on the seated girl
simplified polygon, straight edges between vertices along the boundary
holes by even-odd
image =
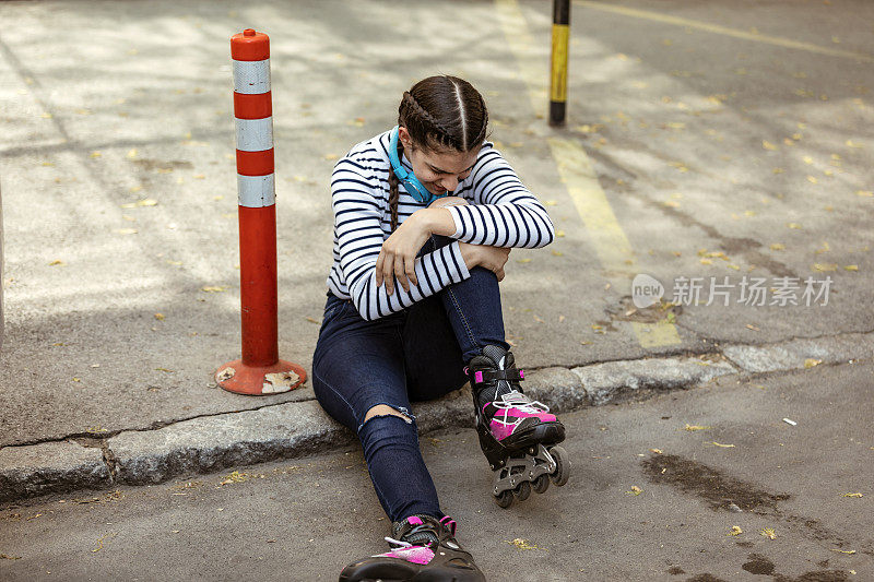
[[[418,285],[411,282],[410,292],[395,284],[388,295],[385,282],[376,285],[376,260],[391,234],[389,136],[387,131],[355,145],[334,165],[331,176],[334,262],[328,288],[341,299],[352,299],[368,321],[401,311],[471,276],[458,241],[453,241],[416,259]],[[413,171],[405,155],[401,163]],[[410,195],[403,185],[398,188],[400,227],[408,216],[427,205]],[[470,204],[447,207],[456,223],[456,233],[450,236],[459,241],[533,249],[555,238],[546,209],[489,142],[483,144],[473,170],[452,195]]]

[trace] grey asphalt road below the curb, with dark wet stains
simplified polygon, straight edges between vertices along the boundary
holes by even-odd
[[[509,509],[472,429],[422,450],[489,581],[874,580],[872,378],[818,366],[566,414],[570,480]],[[0,578],[335,580],[385,535],[350,447],[3,506]]]

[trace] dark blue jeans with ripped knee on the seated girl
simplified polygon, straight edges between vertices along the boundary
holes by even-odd
[[[434,235],[420,256],[452,241]],[[481,266],[470,272],[470,278],[374,321],[363,319],[350,299],[328,292],[310,368],[312,388],[322,408],[357,433],[377,497],[392,522],[414,513],[444,516],[410,402],[462,388],[468,381],[463,368],[483,346],[510,347],[504,341],[497,276]],[[408,418],[374,416],[365,423],[378,404]]]

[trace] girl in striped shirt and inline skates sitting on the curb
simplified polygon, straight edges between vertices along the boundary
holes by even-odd
[[[404,92],[398,127],[334,166],[334,262],[312,387],[361,439],[393,535],[390,551],[351,563],[342,581],[409,580],[422,570],[428,580],[484,580],[440,511],[411,401],[470,380],[493,468],[564,439],[558,419],[521,393],[498,289],[510,248],[544,247],[554,227],[485,141],[487,124],[470,83],[430,76]]]

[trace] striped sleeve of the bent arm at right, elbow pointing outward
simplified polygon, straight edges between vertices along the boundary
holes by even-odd
[[[555,227],[546,209],[491,143],[483,145],[470,180],[473,203],[448,206],[456,223],[451,238],[473,245],[528,249],[545,247],[555,239]]]

